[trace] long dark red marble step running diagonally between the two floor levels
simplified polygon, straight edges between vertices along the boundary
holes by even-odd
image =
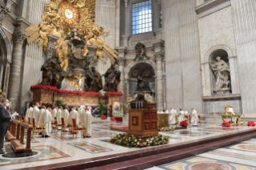
[[[244,140],[250,140],[256,136],[255,132],[250,134],[245,134],[241,136],[235,136],[225,140],[217,140],[209,144],[201,144],[196,147],[182,148],[173,152],[165,152],[153,156],[146,156],[143,158],[138,158],[135,160],[123,161],[116,164],[109,164],[106,166],[101,166],[97,168],[87,168],[90,170],[141,170],[145,168],[152,168],[157,165],[167,164],[172,161],[181,160],[189,156],[195,156],[203,152],[209,152],[217,148],[222,148],[229,146],[231,144],[236,144]]]

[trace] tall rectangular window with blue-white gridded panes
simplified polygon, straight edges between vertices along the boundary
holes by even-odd
[[[152,31],[151,0],[132,4],[132,34]]]

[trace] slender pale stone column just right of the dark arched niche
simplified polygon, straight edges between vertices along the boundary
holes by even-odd
[[[158,109],[164,109],[163,59],[164,53],[157,52],[156,58],[156,104]]]

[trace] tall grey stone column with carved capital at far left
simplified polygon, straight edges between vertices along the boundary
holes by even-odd
[[[13,103],[13,109],[16,109],[18,94],[20,90],[20,79],[22,72],[22,46],[26,35],[22,31],[16,31],[13,34],[13,57],[10,66],[10,79],[8,88],[8,99]]]

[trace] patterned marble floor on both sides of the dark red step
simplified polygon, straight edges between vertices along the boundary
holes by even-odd
[[[74,160],[83,160],[99,156],[110,156],[117,153],[132,152],[144,149],[126,148],[108,142],[113,133],[124,133],[112,131],[110,130],[111,127],[126,126],[128,126],[128,123],[116,123],[109,120],[101,121],[100,119],[95,119],[92,123],[91,138],[83,138],[81,134],[78,134],[77,139],[73,139],[69,132],[66,132],[65,135],[61,135],[60,131],[51,133],[50,138],[36,136],[31,143],[33,152],[36,152],[34,156],[13,159],[0,155],[0,169],[10,170],[42,166],[45,164],[67,163]],[[200,140],[211,136],[242,132],[249,130],[250,128],[255,127],[213,127],[213,125],[201,124],[201,126],[198,127],[188,127],[187,129],[176,130],[175,132],[160,133],[169,137],[169,144],[178,144],[186,141]],[[5,148],[6,152],[11,152],[10,143],[5,142]],[[249,154],[246,155],[247,152]],[[227,162],[229,157],[232,157],[233,160],[230,163]],[[253,169],[256,167],[256,139],[248,140],[243,144],[236,144],[228,148],[221,148],[213,152],[207,152],[189,159],[161,165],[157,168],[180,170],[189,169],[189,167],[193,164],[198,164],[193,165],[195,168],[191,169],[201,169],[198,167],[201,167],[202,164],[207,164],[207,166],[223,166],[225,168],[229,167],[227,169],[237,168],[240,170],[243,168],[239,168],[239,166],[246,166],[244,163],[242,164],[242,161],[244,161],[244,163],[248,163],[247,169]]]

